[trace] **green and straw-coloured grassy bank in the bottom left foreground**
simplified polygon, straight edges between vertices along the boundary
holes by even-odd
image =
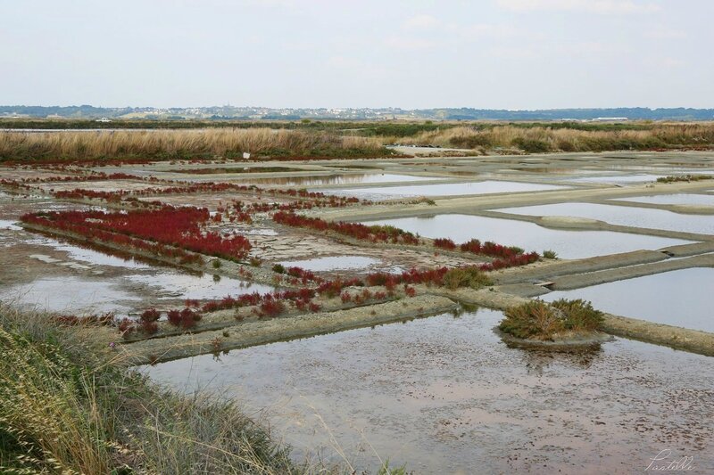
[[[236,405],[155,387],[97,332],[0,305],[0,472],[305,471]]]

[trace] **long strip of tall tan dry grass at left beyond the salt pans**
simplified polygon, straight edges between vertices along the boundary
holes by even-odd
[[[253,155],[378,156],[375,138],[270,128],[0,132],[2,160],[192,159]]]

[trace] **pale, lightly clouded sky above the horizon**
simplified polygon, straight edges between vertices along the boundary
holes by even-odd
[[[711,0],[0,0],[0,104],[714,107]]]

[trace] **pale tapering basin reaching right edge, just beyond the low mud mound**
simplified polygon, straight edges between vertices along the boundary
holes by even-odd
[[[714,234],[714,217],[680,215],[664,209],[633,208],[593,203],[558,203],[497,210],[516,215],[587,217],[605,221],[612,225]]]

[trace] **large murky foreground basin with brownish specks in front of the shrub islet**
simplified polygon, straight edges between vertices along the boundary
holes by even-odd
[[[357,472],[377,472],[378,456],[415,473],[634,472],[663,444],[714,470],[710,358],[631,340],[507,348],[492,330],[501,317],[440,315],[143,371],[235,397],[296,460],[321,447],[342,462],[338,446]]]

